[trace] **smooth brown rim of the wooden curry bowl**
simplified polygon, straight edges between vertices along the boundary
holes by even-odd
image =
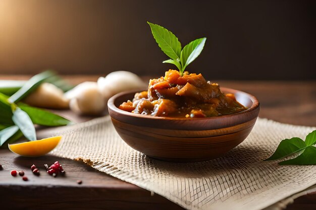
[[[130,116],[130,117],[136,117],[136,118],[142,118],[142,119],[155,119],[155,120],[180,120],[180,121],[188,121],[188,120],[195,120],[195,121],[200,121],[200,120],[209,120],[209,119],[223,119],[224,117],[229,117],[229,116],[236,116],[236,115],[242,115],[242,114],[245,114],[245,113],[248,113],[248,112],[251,112],[257,108],[259,108],[259,101],[258,99],[249,94],[249,93],[246,93],[246,92],[243,92],[243,91],[239,91],[239,90],[236,90],[236,89],[232,89],[232,88],[226,88],[226,87],[221,87],[221,91],[222,92],[227,92],[227,93],[232,93],[232,94],[235,94],[235,93],[242,93],[242,94],[245,94],[247,95],[250,100],[252,101],[252,105],[251,107],[249,107],[248,109],[244,110],[244,111],[241,111],[241,112],[237,112],[237,113],[233,113],[233,114],[226,114],[226,115],[221,115],[221,116],[215,116],[215,117],[203,117],[203,118],[177,118],[177,117],[157,117],[157,116],[151,116],[151,115],[143,115],[143,114],[135,114],[135,113],[132,113],[132,112],[128,112],[128,111],[124,111],[122,109],[119,109],[116,105],[115,105],[115,101],[116,99],[118,99],[119,97],[121,96],[124,96],[124,95],[127,95],[127,94],[132,94],[132,93],[137,93],[137,92],[142,92],[142,91],[145,91],[145,90],[130,90],[130,91],[124,91],[124,92],[121,92],[121,93],[118,93],[114,96],[112,96],[109,100],[108,100],[108,108],[109,110],[112,109],[113,111],[119,113],[119,114],[122,114],[122,115],[127,115],[127,116]]]

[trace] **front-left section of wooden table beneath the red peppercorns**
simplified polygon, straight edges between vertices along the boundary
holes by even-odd
[[[56,178],[45,172],[44,164],[59,161],[65,176]],[[40,158],[18,157],[8,150],[0,150],[0,205],[1,209],[162,209],[180,206],[164,197],[135,185],[101,173],[81,162],[44,156]],[[40,176],[32,174],[35,164]],[[29,181],[11,170],[23,170]],[[82,180],[82,184],[77,184]]]

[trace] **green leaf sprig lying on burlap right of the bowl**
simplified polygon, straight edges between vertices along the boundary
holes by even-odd
[[[278,160],[299,154],[296,158],[282,161],[280,165],[314,165],[316,164],[316,130],[309,133],[305,142],[299,137],[286,138],[281,141],[274,154],[266,161]]]

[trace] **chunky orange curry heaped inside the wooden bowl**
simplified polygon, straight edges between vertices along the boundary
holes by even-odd
[[[220,86],[206,81],[201,74],[183,76],[169,70],[165,77],[149,81],[148,91],[136,93],[132,101],[123,102],[120,109],[159,117],[214,117],[232,114],[247,108],[233,94],[223,94]]]

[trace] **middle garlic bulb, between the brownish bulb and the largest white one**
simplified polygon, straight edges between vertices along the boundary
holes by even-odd
[[[70,99],[70,109],[78,114],[97,115],[104,111],[106,103],[96,82],[84,82],[65,94]]]

